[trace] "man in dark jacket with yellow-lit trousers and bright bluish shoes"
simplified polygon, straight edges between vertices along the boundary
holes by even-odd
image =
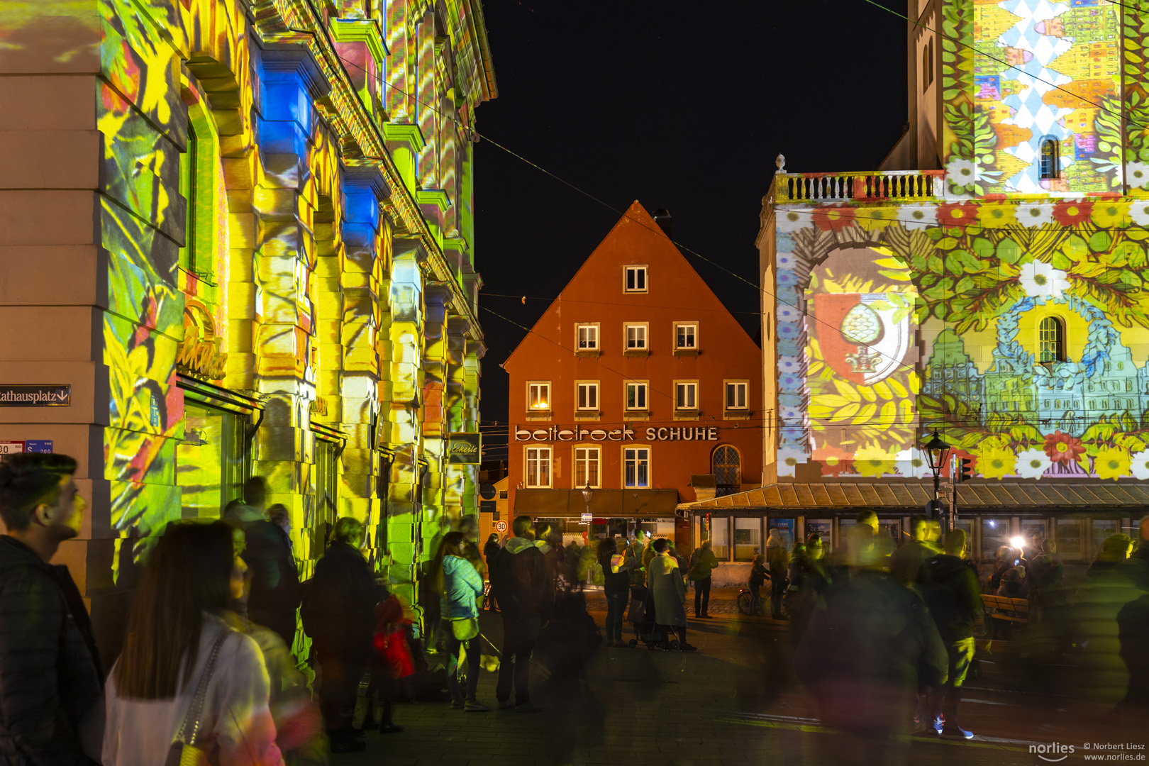
[[[978,575],[964,557],[965,531],[947,532],[946,552],[925,563],[920,588],[949,659],[946,686],[931,695],[934,729],[942,736],[970,740],[973,734],[958,725],[957,705],[973,659],[973,626],[984,609]]]

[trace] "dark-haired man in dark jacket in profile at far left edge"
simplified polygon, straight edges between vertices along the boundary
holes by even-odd
[[[64,565],[48,562],[79,534],[84,500],[65,455],[0,461],[0,763],[92,764],[80,748],[101,679],[92,622]]]

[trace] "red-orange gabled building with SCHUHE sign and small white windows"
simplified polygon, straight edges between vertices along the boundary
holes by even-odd
[[[761,483],[761,353],[662,212],[634,202],[503,364],[509,510],[568,536],[712,534],[731,558],[761,519],[710,531],[677,508]]]

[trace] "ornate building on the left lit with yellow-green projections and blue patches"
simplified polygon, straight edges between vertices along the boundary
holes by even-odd
[[[0,440],[79,459],[91,523],[61,556],[101,645],[147,539],[249,475],[302,577],[350,514],[411,601],[424,542],[477,506],[448,451],[484,351],[479,3],[78,0],[0,26],[0,384],[70,387],[0,407]]]

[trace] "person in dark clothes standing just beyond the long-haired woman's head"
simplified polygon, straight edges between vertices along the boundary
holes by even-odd
[[[278,633],[291,647],[295,642],[295,616],[302,596],[291,537],[263,510],[267,482],[262,478],[252,477],[244,482],[244,505],[233,508],[224,518],[244,531],[244,560],[252,581],[247,616]]]

